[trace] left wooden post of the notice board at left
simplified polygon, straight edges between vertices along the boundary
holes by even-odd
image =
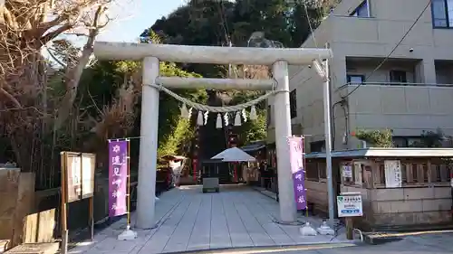
[[[62,194],[62,203],[61,203],[61,218],[62,218],[62,254],[66,254],[68,252],[68,224],[67,224],[67,204],[66,204],[66,161],[67,161],[67,154],[65,152],[61,153],[61,165],[62,165],[62,186],[61,186],[61,194]],[[82,163],[82,162],[81,162]]]

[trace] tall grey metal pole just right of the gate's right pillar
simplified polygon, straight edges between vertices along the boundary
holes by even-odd
[[[333,174],[332,174],[332,136],[331,136],[331,93],[329,61],[323,61],[324,80],[323,80],[323,104],[324,104],[324,136],[325,136],[325,164],[327,171],[327,193],[329,196],[329,224],[333,227],[334,223],[334,193],[333,193]]]

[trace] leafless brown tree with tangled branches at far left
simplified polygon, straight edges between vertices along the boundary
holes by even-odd
[[[71,113],[82,71],[93,63],[92,43],[106,25],[101,19],[104,6],[112,1],[115,0],[5,0],[5,5],[0,5],[0,129],[11,137],[14,159],[24,171],[43,167],[43,159],[47,158],[43,155],[47,149],[43,135],[52,132],[53,121],[58,128],[54,128],[52,149],[60,146],[57,131],[73,136],[81,128],[82,115],[63,115]],[[47,48],[53,61],[64,68],[66,86],[63,95],[58,91],[48,95],[47,90],[56,87],[47,86],[47,80],[51,80],[47,78],[58,78],[61,71],[47,67],[51,63],[43,59],[41,49],[64,33],[86,33],[87,42],[82,51],[70,49],[72,54],[67,58],[59,55],[59,49]],[[71,131],[60,130],[63,126]]]

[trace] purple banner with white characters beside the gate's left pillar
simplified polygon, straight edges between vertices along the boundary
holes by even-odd
[[[109,142],[109,217],[126,214],[128,141]]]

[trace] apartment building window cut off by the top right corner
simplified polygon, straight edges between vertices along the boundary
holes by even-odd
[[[453,28],[453,0],[432,0],[431,14],[435,28]]]

